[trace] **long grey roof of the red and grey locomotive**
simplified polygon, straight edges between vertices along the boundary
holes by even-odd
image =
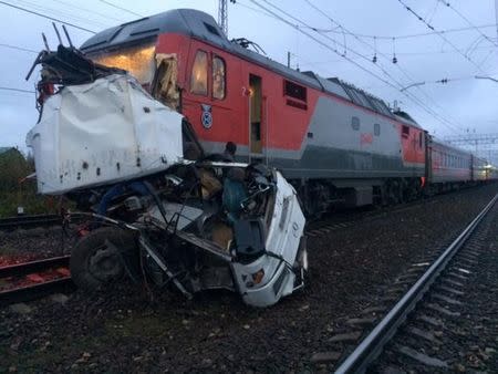
[[[336,77],[324,79],[314,72],[301,73],[229,41],[211,15],[194,9],[169,10],[104,30],[84,42],[81,45],[81,50],[90,54],[102,50],[113,50],[122,45],[153,40],[159,33],[165,32],[186,34],[205,40],[230,53],[264,65],[287,79],[335,94],[360,106],[396,118],[384,101],[352,84],[340,81]],[[407,121],[405,120],[404,122]],[[418,127],[415,122],[408,123]]]

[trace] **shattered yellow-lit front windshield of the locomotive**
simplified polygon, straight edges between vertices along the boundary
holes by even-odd
[[[148,84],[154,76],[154,44],[122,48],[111,52],[92,53],[90,58],[100,64],[129,72],[141,84]]]

